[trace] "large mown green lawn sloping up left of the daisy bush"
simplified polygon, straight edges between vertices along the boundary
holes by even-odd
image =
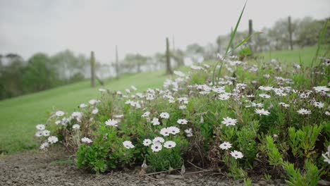
[[[142,91],[149,87],[161,87],[168,77],[164,74],[163,71],[157,71],[124,75],[120,80],[106,80],[103,88],[123,90],[135,85],[138,91]],[[0,101],[0,154],[37,147],[35,125],[44,123],[49,111],[74,111],[79,104],[97,99],[100,96],[99,87],[91,88],[90,81],[84,81]]]

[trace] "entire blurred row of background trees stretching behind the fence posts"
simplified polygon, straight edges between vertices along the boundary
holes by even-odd
[[[329,19],[329,18],[328,18]],[[293,37],[293,48],[302,49],[305,46],[317,44],[319,32],[325,20],[314,20],[306,17],[293,19],[291,30]],[[288,20],[287,18],[276,21],[273,27],[262,30],[260,35],[253,35],[249,44],[250,49],[244,46],[240,52],[252,51],[252,54],[270,51],[286,51],[290,49]],[[248,31],[237,32],[233,45],[245,39]],[[179,66],[199,63],[205,60],[216,59],[216,54],[223,54],[230,39],[230,34],[219,35],[214,43],[206,46],[194,43],[186,47],[185,50],[175,49],[171,46],[171,66]],[[326,33],[324,44],[330,45],[330,25]],[[1,51],[0,51],[1,53]],[[142,54],[126,54],[118,61],[118,72],[116,72],[116,62],[109,61],[100,63],[96,61],[97,77],[105,79],[125,73],[140,73],[147,70],[159,70],[164,68],[166,61],[165,47],[153,56]],[[61,85],[68,85],[90,78],[90,58],[82,54],[74,54],[73,51],[60,51],[53,56],[37,53],[25,60],[19,54],[0,54],[0,99],[17,97],[23,94],[39,92]]]

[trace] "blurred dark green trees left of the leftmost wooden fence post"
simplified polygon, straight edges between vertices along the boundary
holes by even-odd
[[[54,56],[37,53],[26,61],[18,54],[0,54],[0,99],[84,80],[89,59],[61,51]]]

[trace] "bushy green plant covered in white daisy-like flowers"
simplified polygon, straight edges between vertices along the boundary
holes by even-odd
[[[312,168],[315,179],[329,173],[329,66],[221,60],[213,86],[213,63],[204,63],[187,75],[176,71],[163,89],[102,89],[71,115],[56,111],[37,125],[40,149],[61,143],[78,167],[97,173],[134,165],[166,171],[186,161],[236,179],[286,172],[293,182],[295,167]]]

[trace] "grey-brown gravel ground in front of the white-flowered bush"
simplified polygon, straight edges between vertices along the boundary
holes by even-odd
[[[62,161],[59,161],[62,159]],[[62,163],[61,163],[62,162]],[[0,185],[243,185],[221,175],[190,174],[167,178],[166,175],[151,175],[139,178],[135,171],[114,171],[94,175],[78,170],[73,164],[63,163],[63,155],[46,157],[37,152],[25,152],[5,156],[0,159]],[[253,185],[283,185],[283,180],[264,182]]]

